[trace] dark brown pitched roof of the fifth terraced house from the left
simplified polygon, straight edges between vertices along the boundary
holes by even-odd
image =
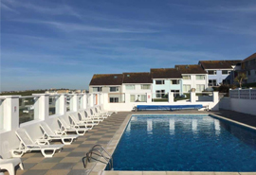
[[[231,69],[241,61],[199,61],[204,69]]]

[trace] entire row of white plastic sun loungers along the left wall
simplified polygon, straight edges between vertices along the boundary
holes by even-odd
[[[61,151],[64,145],[72,144],[79,135],[92,130],[95,125],[98,125],[113,113],[115,112],[102,111],[101,106],[82,110],[78,113],[70,113],[68,115],[69,123],[63,117],[57,119],[60,128],[56,131],[53,131],[46,122],[41,122],[39,127],[43,135],[38,139],[32,139],[25,129],[19,128],[15,131],[20,140],[19,148],[10,150],[12,157],[14,157],[12,159],[2,159],[0,156],[0,170],[6,169],[10,175],[14,175],[15,166],[19,165],[23,169],[21,159],[16,157],[21,157],[30,151],[41,151],[46,158],[52,157],[56,151]],[[75,134],[67,134],[69,132]],[[51,141],[61,141],[62,144],[51,145]]]

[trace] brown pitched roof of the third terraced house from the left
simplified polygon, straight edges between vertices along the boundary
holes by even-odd
[[[160,68],[150,70],[152,79],[181,79],[181,73],[174,68]]]

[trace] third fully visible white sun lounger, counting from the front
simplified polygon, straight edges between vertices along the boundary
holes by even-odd
[[[58,131],[61,131],[62,133],[74,132],[75,131],[75,132],[77,132],[78,135],[84,135],[84,133],[86,131],[88,131],[88,129],[82,129],[80,127],[74,127],[74,126],[68,125],[64,121],[64,118],[62,118],[62,117],[58,118],[58,121],[61,124],[60,130],[58,130]]]

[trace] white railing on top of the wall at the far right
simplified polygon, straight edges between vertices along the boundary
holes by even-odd
[[[230,98],[256,100],[256,89],[230,89]]]

